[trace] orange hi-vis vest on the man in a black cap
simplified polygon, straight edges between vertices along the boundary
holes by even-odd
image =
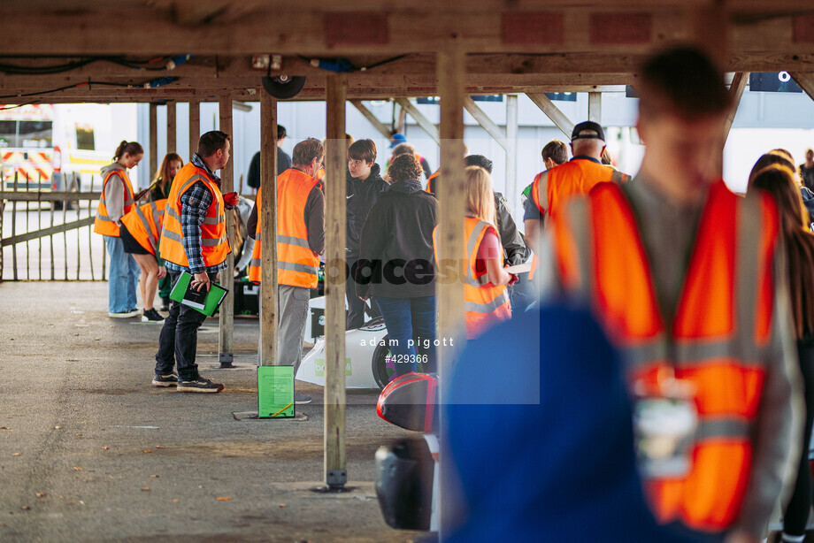
[[[532,183],[532,200],[540,210],[541,217],[545,213],[549,216],[566,199],[573,195],[587,195],[597,183],[604,181],[621,181],[623,174],[605,164],[599,164],[587,158],[572,158],[565,164],[559,164],[547,170],[546,207],[543,208],[540,200],[540,178],[542,173],[534,177]]]

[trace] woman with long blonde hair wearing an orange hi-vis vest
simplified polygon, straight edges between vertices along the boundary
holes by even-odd
[[[464,299],[466,337],[474,339],[502,320],[511,318],[507,285],[518,280],[503,267],[503,246],[497,232],[492,177],[480,166],[464,170],[466,250]],[[437,230],[437,228],[436,228]],[[438,260],[437,232],[433,233]]]

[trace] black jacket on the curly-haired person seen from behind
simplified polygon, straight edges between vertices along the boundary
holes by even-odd
[[[362,227],[357,295],[418,298],[435,294],[437,207],[418,180],[399,181],[379,195]]]

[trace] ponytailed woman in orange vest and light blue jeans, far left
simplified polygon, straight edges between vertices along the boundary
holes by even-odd
[[[104,236],[111,257],[108,275],[108,317],[127,318],[139,314],[136,308],[135,286],[139,266],[127,254],[121,242],[121,218],[135,206],[133,185],[127,170],[144,157],[138,141],[122,141],[113,155],[113,162],[102,168],[102,197],[96,210],[93,231]]]

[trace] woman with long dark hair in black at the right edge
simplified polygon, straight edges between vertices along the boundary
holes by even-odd
[[[772,162],[764,155],[758,160]],[[757,164],[756,164],[757,165]],[[809,440],[814,424],[814,235],[804,219],[804,207],[794,164],[769,164],[753,170],[749,191],[763,189],[774,196],[780,215],[780,234],[786,246],[788,290],[797,340],[797,356],[804,385],[805,429],[795,490],[783,516],[783,541],[802,542],[811,507]]]

